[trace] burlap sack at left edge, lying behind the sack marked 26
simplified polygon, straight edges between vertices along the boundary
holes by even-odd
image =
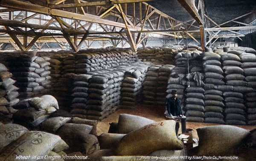
[[[0,125],[0,149],[20,138],[29,130],[18,124],[3,124]]]

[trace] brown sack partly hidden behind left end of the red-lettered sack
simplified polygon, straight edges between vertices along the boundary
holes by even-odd
[[[102,133],[98,136],[100,149],[115,149],[126,134]]]

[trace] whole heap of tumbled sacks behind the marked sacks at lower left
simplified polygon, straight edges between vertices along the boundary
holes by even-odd
[[[15,123],[61,136],[69,145],[65,152],[79,151],[87,155],[99,149],[96,137],[98,122],[76,118],[58,109],[58,102],[51,95],[22,100],[15,108],[19,108],[13,115]]]

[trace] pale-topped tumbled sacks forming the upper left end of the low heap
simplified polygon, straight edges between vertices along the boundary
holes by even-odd
[[[52,95],[21,100],[15,106],[18,111],[13,120],[27,128],[37,128],[43,121],[58,109],[58,102]]]

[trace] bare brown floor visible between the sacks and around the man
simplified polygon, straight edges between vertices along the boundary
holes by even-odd
[[[101,135],[102,133],[108,132],[110,123],[118,122],[119,114],[131,114],[131,115],[138,115],[145,118],[149,118],[154,121],[163,121],[166,120],[163,113],[165,109],[161,106],[149,106],[149,105],[141,105],[138,106],[136,109],[118,109],[116,112],[108,116],[102,121],[99,121],[97,125],[97,135]],[[198,122],[186,122],[186,129],[192,129],[193,138],[198,138],[196,129],[199,127],[204,126],[214,126],[220,124],[209,124],[209,123],[198,123]],[[238,125],[233,125],[238,126]],[[247,130],[256,129],[256,126],[238,126]],[[180,132],[181,133],[181,128]]]

